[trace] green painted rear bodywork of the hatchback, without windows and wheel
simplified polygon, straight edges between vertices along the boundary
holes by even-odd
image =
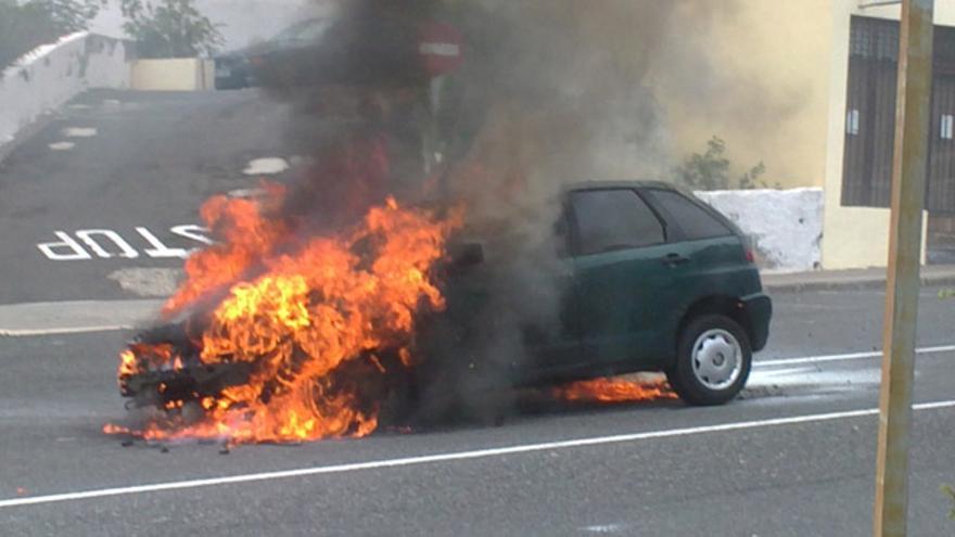
[[[653,206],[654,192],[677,192],[662,183],[588,184],[574,191],[634,189]],[[722,236],[685,240],[679,220],[655,207],[665,222],[665,242],[635,248],[580,255],[572,245],[574,286],[580,301],[581,344],[589,360],[629,368],[665,370],[675,341],[693,316],[726,314],[747,330],[753,350],[768,338],[772,303],[750,260],[746,239],[729,220],[695,202],[726,226]],[[572,243],[578,239],[572,238]],[[624,367],[624,369],[629,369]]]

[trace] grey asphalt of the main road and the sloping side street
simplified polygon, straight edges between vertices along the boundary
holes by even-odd
[[[271,140],[265,127],[237,133],[251,117],[280,123],[254,92],[85,99],[92,108],[67,108],[0,166],[0,268],[16,282],[0,290],[0,309],[140,296],[109,276],[181,260],[53,260],[36,244],[55,230],[125,238],[194,222],[202,197],[253,183],[241,174],[249,159],[291,156],[281,142],[257,145]],[[97,106],[128,110],[106,118]],[[51,151],[68,125],[98,135]],[[187,247],[179,239],[162,236]],[[775,297],[769,347],[743,397],[724,407],[538,404],[499,427],[228,455],[124,447],[100,432],[125,417],[114,371],[128,331],[0,337],[0,534],[869,535],[879,361],[865,353],[880,345],[881,301],[877,291]],[[953,318],[955,301],[924,290],[919,345],[935,348],[917,366],[912,535],[955,535],[940,491],[955,484]]]

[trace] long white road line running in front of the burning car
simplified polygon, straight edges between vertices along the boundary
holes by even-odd
[[[922,402],[914,405],[915,410],[939,410],[955,408],[955,400],[943,400],[934,402]],[[789,418],[775,418],[769,420],[742,421],[736,423],[722,423],[718,425],[702,425],[697,427],[672,429],[663,431],[650,431],[645,433],[621,434],[613,436],[597,436],[590,438],[575,438],[570,440],[547,442],[540,444],[524,444],[518,446],[506,446],[489,449],[478,449],[473,451],[454,451],[449,453],[424,455],[420,457],[406,457],[402,459],[384,459],[367,462],[352,462],[345,464],[333,464],[328,466],[302,468],[295,470],[284,470],[279,472],[263,472],[256,474],[230,475],[222,477],[209,477],[205,480],[178,481],[169,483],[153,483],[148,485],[135,485],[129,487],[101,488],[98,490],[82,490],[76,493],[63,493],[47,496],[33,496],[26,498],[11,498],[0,500],[0,509],[36,506],[42,503],[56,503],[61,501],[90,500],[96,498],[106,498],[111,496],[129,496],[145,493],[158,493],[165,490],[181,490],[188,488],[213,487],[219,485],[234,485],[238,483],[252,483],[275,480],[288,480],[291,477],[307,477],[311,475],[339,474],[345,472],[360,472],[365,470],[380,470],[399,466],[415,466],[420,464],[432,464],[438,462],[462,461],[473,459],[486,459],[491,457],[500,457],[508,455],[533,453],[537,451],[548,451],[556,449],[569,449],[587,446],[600,446],[608,444],[621,444],[637,440],[647,440],[653,438],[672,438],[678,436],[691,436],[708,433],[724,433],[727,431],[739,431],[746,429],[765,429],[781,425],[797,425],[804,423],[818,423],[833,420],[844,420],[850,418],[862,418],[876,415],[879,413],[877,408],[867,408],[863,410],[848,410],[842,412],[828,412],[819,414],[794,415]]]

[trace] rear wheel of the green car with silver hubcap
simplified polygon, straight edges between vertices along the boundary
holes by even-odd
[[[689,322],[679,334],[670,385],[689,405],[723,405],[746,385],[753,351],[742,327],[722,315]]]

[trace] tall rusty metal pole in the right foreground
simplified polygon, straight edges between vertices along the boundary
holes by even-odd
[[[912,387],[932,88],[932,7],[933,0],[902,2],[892,227],[879,399],[876,537],[906,535]]]

